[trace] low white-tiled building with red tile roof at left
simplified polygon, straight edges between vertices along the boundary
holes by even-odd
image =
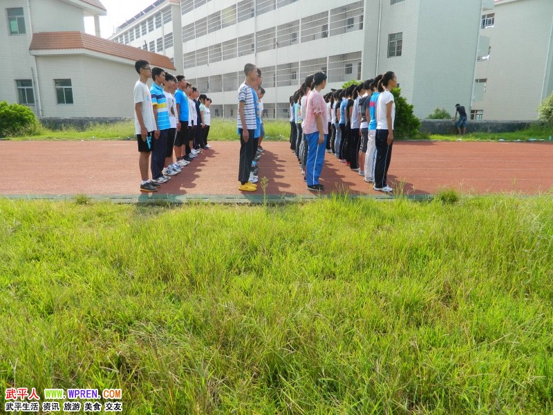
[[[132,117],[134,62],[174,70],[165,56],[85,34],[86,16],[100,32],[99,0],[3,0],[1,7],[0,100],[39,117]]]

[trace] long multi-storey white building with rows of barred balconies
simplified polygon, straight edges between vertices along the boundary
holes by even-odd
[[[133,44],[131,30],[135,39],[140,32],[142,46],[156,43],[178,67],[176,50],[158,50],[159,35],[142,36],[144,21],[163,17],[168,3],[154,3],[112,39]],[[182,73],[212,98],[214,115],[234,117],[243,66],[254,63],[263,71],[267,115],[285,117],[288,98],[310,73],[326,71],[330,90],[395,71],[415,114],[426,117],[470,100],[482,4],[493,8],[491,0],[447,7],[441,0],[181,0]],[[171,10],[165,31],[176,45]]]

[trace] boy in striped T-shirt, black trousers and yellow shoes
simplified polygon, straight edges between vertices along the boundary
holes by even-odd
[[[245,64],[245,80],[238,88],[238,134],[240,135],[240,162],[238,165],[238,190],[255,192],[257,186],[250,183],[250,170],[254,158],[254,134],[256,129],[253,87],[257,82],[257,68]]]

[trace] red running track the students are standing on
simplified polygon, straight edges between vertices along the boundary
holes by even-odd
[[[238,142],[211,142],[158,193],[235,195]],[[259,178],[267,194],[311,194],[288,142],[263,142]],[[134,141],[0,141],[0,194],[140,194]],[[326,154],[321,183],[329,192],[379,194]],[[464,194],[540,194],[553,188],[553,145],[541,142],[396,142],[388,185],[408,194],[454,188]],[[263,194],[261,186],[254,194]]]

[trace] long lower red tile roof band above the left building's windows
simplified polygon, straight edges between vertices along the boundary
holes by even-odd
[[[92,1],[92,0],[91,0]],[[119,44],[102,37],[82,32],[42,32],[32,35],[29,50],[86,49],[136,62],[144,59],[154,66],[175,70],[167,56],[148,52],[133,46]]]

